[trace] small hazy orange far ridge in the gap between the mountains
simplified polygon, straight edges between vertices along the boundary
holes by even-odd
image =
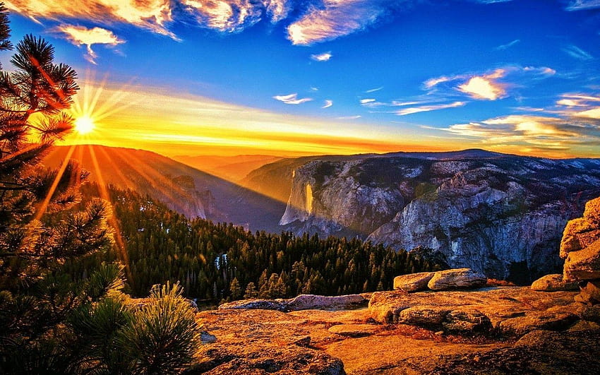
[[[203,172],[227,179],[227,181],[236,182],[246,177],[252,170],[281,160],[282,157],[273,155],[178,155],[173,159]]]

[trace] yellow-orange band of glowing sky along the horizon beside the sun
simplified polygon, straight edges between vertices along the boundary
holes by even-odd
[[[280,114],[206,97],[109,83],[93,76],[80,83],[71,114],[88,117],[94,130],[77,131],[63,145],[97,144],[181,155],[353,155],[398,151],[450,151],[484,148],[501,153],[546,157],[600,157],[598,150],[546,148],[522,141],[495,143],[447,129],[416,124],[364,124],[357,121]],[[85,129],[85,128],[84,128]]]

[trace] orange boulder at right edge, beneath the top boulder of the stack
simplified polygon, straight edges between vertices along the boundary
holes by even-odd
[[[579,251],[571,251],[563,268],[565,280],[600,279],[600,239]]]

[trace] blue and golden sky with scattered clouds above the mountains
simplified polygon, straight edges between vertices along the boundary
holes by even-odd
[[[119,107],[109,93],[135,103],[104,117],[105,130],[120,132],[124,145],[167,154],[181,150],[179,140],[192,154],[213,146],[215,153],[280,155],[479,147],[600,157],[599,0],[6,6],[14,40],[29,32],[50,40],[57,60],[80,72],[82,91],[104,88],[105,107]],[[8,54],[0,61],[8,67]],[[150,114],[148,93],[157,95],[152,108],[170,107],[169,117]],[[189,107],[207,102],[222,105],[222,116],[215,109],[210,121],[194,121]],[[136,143],[133,134],[148,122],[157,136]],[[215,124],[220,135],[207,128]],[[245,138],[219,143],[240,129]],[[212,138],[185,138],[198,133]],[[372,142],[361,148],[352,140]],[[101,142],[100,134],[92,141]],[[320,148],[323,142],[338,146]]]

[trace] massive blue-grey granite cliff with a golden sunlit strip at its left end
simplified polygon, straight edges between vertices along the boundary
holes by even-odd
[[[565,224],[599,186],[600,160],[472,150],[313,160],[294,171],[280,225],[427,247],[453,268],[525,283],[560,269]]]

